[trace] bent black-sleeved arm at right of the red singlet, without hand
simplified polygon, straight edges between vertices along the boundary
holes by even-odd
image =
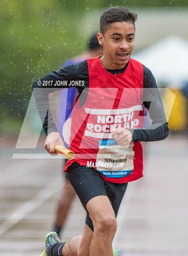
[[[135,129],[132,141],[157,141],[167,138],[169,134],[168,124],[158,92],[155,78],[147,67],[144,68],[143,104],[149,110],[152,124],[141,129]]]

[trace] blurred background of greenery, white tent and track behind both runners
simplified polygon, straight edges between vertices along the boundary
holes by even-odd
[[[85,51],[101,14],[115,5],[138,14],[132,58],[150,68],[159,88],[169,89],[161,95],[171,134],[144,145],[145,177],[129,184],[114,246],[130,256],[188,255],[187,1],[1,0],[2,256],[39,255],[64,183],[62,160],[43,149],[32,83]],[[16,147],[23,123],[21,140],[29,146]],[[76,199],[62,239],[81,234],[84,220]]]

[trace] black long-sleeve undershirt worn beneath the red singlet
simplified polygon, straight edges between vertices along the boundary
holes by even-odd
[[[127,68],[127,65],[119,70],[108,70],[112,74],[123,73]],[[152,120],[152,124],[147,127],[134,129],[132,130],[132,141],[157,141],[165,139],[169,134],[168,124],[165,117],[165,112],[162,106],[162,101],[160,95],[158,93],[158,88],[156,85],[156,81],[150,69],[143,65],[144,72],[144,81],[143,81],[143,104],[145,108],[149,110],[150,118]],[[43,128],[46,134],[49,134],[53,131],[57,131],[56,125],[53,121],[53,117],[51,116],[50,108],[49,108],[49,94],[55,92],[57,90],[61,90],[62,88],[70,88],[68,86],[70,81],[83,81],[84,86],[75,86],[78,91],[78,95],[84,92],[84,95],[81,97],[81,106],[84,105],[87,93],[85,88],[89,87],[89,72],[87,61],[83,61],[79,64],[72,64],[66,66],[60,71],[53,71],[46,76],[36,80],[33,84],[33,94],[34,99],[38,108],[39,115],[43,122]],[[50,86],[41,87],[38,86],[38,81],[53,81]],[[61,87],[61,89],[53,86],[56,81],[67,81],[67,85]],[[148,90],[152,89],[152,90]]]

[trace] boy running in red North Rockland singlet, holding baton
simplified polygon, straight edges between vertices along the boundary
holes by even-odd
[[[76,157],[67,162],[65,171],[87,212],[82,236],[61,243],[56,233],[50,233],[42,256],[112,256],[116,216],[128,182],[143,176],[141,141],[161,140],[168,135],[154,76],[147,67],[130,58],[136,19],[137,14],[123,7],[107,9],[100,18],[98,33],[103,56],[51,72],[38,80],[42,84],[53,81],[54,87],[57,81],[84,84],[77,84],[79,100],[72,114],[70,149]],[[34,89],[38,88],[38,81]],[[49,88],[34,90],[42,120],[50,92]],[[147,128],[142,128],[142,103],[152,119]],[[45,148],[54,154],[54,145],[63,142],[49,111],[44,129],[48,134]],[[120,171],[117,163],[124,164]]]

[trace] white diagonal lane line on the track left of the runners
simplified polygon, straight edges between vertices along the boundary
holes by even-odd
[[[59,182],[60,178],[56,177],[56,179],[52,180],[51,183],[41,189],[33,198],[23,203],[21,207],[14,211],[0,226],[0,235],[7,232],[20,220],[24,219],[31,211],[56,194],[61,189],[61,186],[57,186]]]

